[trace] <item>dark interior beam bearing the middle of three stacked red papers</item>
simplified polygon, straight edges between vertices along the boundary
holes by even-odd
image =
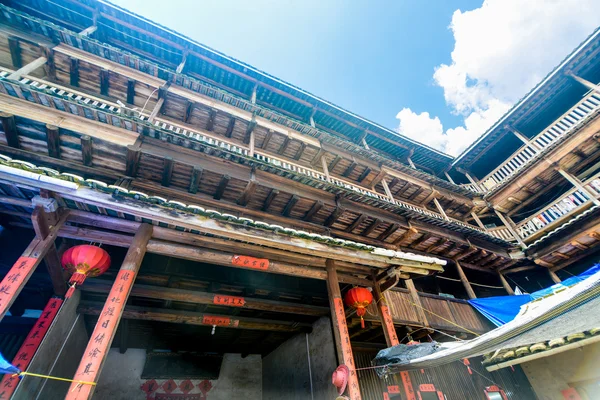
[[[90,293],[108,293],[110,284],[91,279],[86,281],[81,290]],[[136,284],[131,289],[130,296],[143,297],[147,299],[170,300],[193,304],[216,305],[220,307],[242,308],[248,310],[259,310],[268,312],[280,312],[286,314],[324,316],[329,314],[327,307],[292,303],[289,301],[274,301],[252,297],[239,297],[202,292],[197,290],[174,289],[161,286],[149,286]]]

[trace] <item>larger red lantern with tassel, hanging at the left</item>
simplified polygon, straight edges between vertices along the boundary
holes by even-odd
[[[65,295],[69,298],[75,291],[75,285],[81,285],[88,276],[93,278],[106,272],[110,267],[110,256],[100,247],[82,244],[65,251],[61,263],[63,269],[72,274],[69,280],[71,287]]]

